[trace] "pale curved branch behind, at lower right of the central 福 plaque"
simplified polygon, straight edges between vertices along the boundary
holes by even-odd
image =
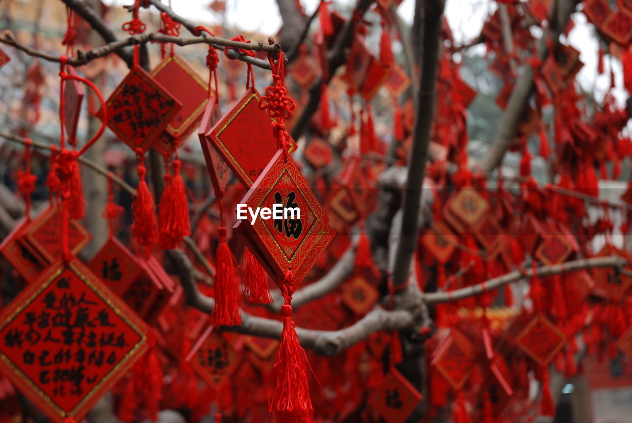
[[[349,246],[343,256],[336,262],[336,265],[334,265],[324,277],[309,285],[305,285],[303,288],[297,289],[296,292],[292,294],[293,309],[296,310],[308,302],[322,298],[342,285],[353,273],[357,250],[358,237],[356,236],[353,238],[353,241],[351,241],[351,246]],[[281,313],[283,297],[281,297],[280,292],[276,290],[272,292],[272,299],[274,299],[274,302],[269,304],[269,308],[276,313]]]

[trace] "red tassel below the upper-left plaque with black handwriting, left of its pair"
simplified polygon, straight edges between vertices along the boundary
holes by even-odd
[[[131,223],[131,234],[138,245],[149,247],[154,244],[157,237],[156,215],[154,198],[149,193],[147,182],[145,182],[147,169],[142,164],[138,165],[138,188],[136,189],[136,199],[131,205],[133,222]]]

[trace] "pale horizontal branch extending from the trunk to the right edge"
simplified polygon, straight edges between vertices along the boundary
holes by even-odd
[[[561,263],[559,265],[541,266],[537,268],[536,273],[538,274],[538,277],[544,277],[598,267],[614,267],[623,270],[623,266],[626,265],[626,263],[628,263],[628,261],[621,256],[593,257],[567,261],[566,263]],[[455,289],[449,292],[427,292],[423,295],[423,301],[427,304],[438,304],[440,302],[461,300],[483,294],[484,292],[489,292],[489,290],[502,287],[503,285],[507,285],[507,283],[518,282],[518,280],[530,277],[533,277],[532,269],[529,268],[521,271],[516,270],[507,273],[506,275],[492,278],[490,280],[486,280],[485,282],[477,283],[476,285],[471,285],[470,287]]]

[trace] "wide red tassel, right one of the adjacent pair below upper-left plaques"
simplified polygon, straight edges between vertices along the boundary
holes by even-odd
[[[174,176],[164,176],[165,188],[160,203],[159,234],[160,244],[164,249],[179,247],[183,237],[191,235],[185,181],[180,174],[180,167],[180,160],[174,160]]]

